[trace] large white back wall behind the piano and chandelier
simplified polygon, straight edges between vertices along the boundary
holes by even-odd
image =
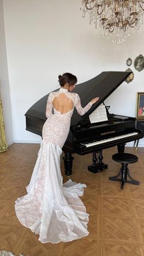
[[[78,83],[101,71],[128,68],[128,57],[143,54],[144,26],[132,40],[115,45],[101,37],[81,0],[4,0],[4,21],[15,142],[40,141],[25,130],[24,114],[32,104],[57,87],[57,76],[70,71]],[[143,92],[144,71],[134,69],[134,81],[124,82],[107,99],[111,111],[135,116],[136,92]],[[144,145],[144,140],[140,141]]]

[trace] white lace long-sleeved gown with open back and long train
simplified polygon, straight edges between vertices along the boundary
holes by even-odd
[[[52,100],[60,93],[73,101],[73,109],[65,114],[52,106]],[[84,115],[92,103],[82,108],[79,95],[62,87],[49,94],[46,106],[48,119],[43,125],[43,141],[27,194],[15,202],[19,221],[39,234],[41,243],[68,242],[88,235],[88,214],[79,199],[86,185],[71,180],[63,184],[60,172],[60,154],[70,130],[74,106],[80,115]]]

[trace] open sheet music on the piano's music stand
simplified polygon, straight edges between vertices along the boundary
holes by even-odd
[[[97,109],[95,109],[92,114],[89,115],[90,117],[90,123],[97,123],[97,122],[103,122],[107,121],[107,112],[104,104],[102,103],[100,106],[98,106]]]

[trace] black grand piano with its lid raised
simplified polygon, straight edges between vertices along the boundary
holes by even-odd
[[[90,123],[89,115],[106,100],[109,95],[131,74],[123,71],[104,71],[93,79],[77,84],[74,92],[79,94],[84,107],[92,98],[99,97],[89,111],[81,116],[74,109],[71,117],[70,133],[63,145],[63,160],[65,174],[72,174],[73,153],[85,155],[92,153],[93,163],[88,170],[93,173],[107,169],[103,163],[103,149],[117,145],[118,152],[124,152],[127,142],[142,138],[142,131],[135,128],[135,118],[124,115],[110,114],[109,106],[106,107],[107,121]],[[57,89],[59,90],[59,89]],[[56,91],[56,90],[55,90]],[[37,101],[26,112],[26,130],[41,136],[46,116],[46,101],[48,95]],[[123,104],[123,102],[121,102]]]

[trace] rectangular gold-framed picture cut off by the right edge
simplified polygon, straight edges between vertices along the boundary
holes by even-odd
[[[144,92],[137,92],[137,119],[144,119]]]

